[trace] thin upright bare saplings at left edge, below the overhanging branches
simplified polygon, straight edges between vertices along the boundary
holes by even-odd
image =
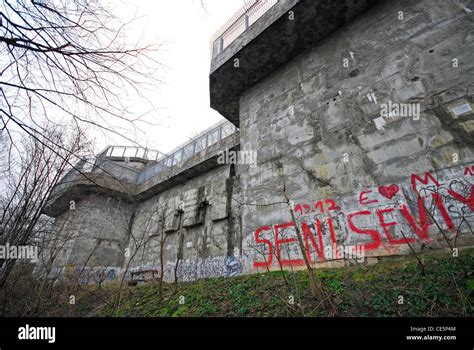
[[[81,130],[76,129],[71,138],[66,138],[58,129],[51,126],[47,134],[58,145],[53,150],[34,137],[16,145],[21,152],[16,155],[14,166],[9,167],[2,178],[4,191],[0,194],[3,203],[0,222],[3,244],[37,245],[50,225],[50,220],[42,215],[48,196],[69,170],[74,154],[81,154],[86,149]],[[2,149],[8,148],[5,145],[8,142],[1,144]],[[14,259],[0,260],[0,287],[5,284],[15,262]]]

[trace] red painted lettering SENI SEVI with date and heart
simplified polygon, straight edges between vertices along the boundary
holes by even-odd
[[[474,166],[472,167],[466,167],[464,170],[464,176],[472,176],[474,174]],[[373,211],[370,210],[361,210],[357,212],[352,212],[349,215],[346,216],[346,223],[348,224],[348,228],[350,232],[355,233],[355,234],[361,234],[361,235],[366,235],[368,236],[368,239],[364,239],[366,242],[363,245],[359,245],[361,249],[364,250],[374,250],[382,245],[382,237],[385,235],[387,237],[388,244],[408,244],[415,242],[416,240],[422,240],[422,241],[428,241],[430,239],[429,236],[429,230],[432,227],[433,224],[436,222],[433,219],[433,216],[430,214],[431,210],[434,209],[436,210],[436,213],[442,217],[442,219],[445,222],[445,225],[448,227],[449,230],[455,230],[455,223],[453,221],[453,218],[450,216],[450,212],[448,212],[446,204],[443,202],[443,196],[448,196],[454,200],[459,201],[460,203],[463,203],[466,205],[471,211],[474,211],[474,186],[471,185],[469,195],[466,196],[465,191],[461,191],[460,193],[456,189],[450,189],[450,187],[454,186],[453,182],[450,183],[448,187],[440,186],[440,183],[438,180],[429,172],[426,172],[424,175],[418,176],[416,174],[411,174],[411,188],[416,195],[417,198],[417,209],[410,209],[407,204],[402,204],[399,206],[398,211],[397,208],[395,207],[385,207],[385,208],[379,208],[376,209],[374,208]],[[457,183],[457,182],[456,182]],[[423,186],[422,186],[423,185]],[[387,199],[392,199],[394,198],[398,193],[400,193],[400,187],[399,185],[396,184],[391,184],[391,185],[385,185],[385,186],[379,186],[378,187],[378,192],[381,196],[387,198]],[[424,192],[431,193],[431,198],[432,201],[430,202],[430,211],[428,211],[427,207],[425,206],[425,202],[428,199],[426,195],[420,195],[418,189],[420,189],[420,192],[424,194]],[[422,191],[424,190],[424,192]],[[439,193],[438,190],[444,191],[444,194],[442,195]],[[379,203],[382,202],[381,197],[379,199],[371,198],[371,193],[375,191],[372,190],[366,190],[362,191],[359,193],[359,204],[360,205],[369,205],[373,203]],[[446,194],[447,192],[447,194]],[[403,193],[401,193],[403,195]],[[349,202],[351,203],[351,202]],[[452,206],[456,207],[456,206]],[[310,214],[310,213],[315,213],[312,214],[313,216],[317,216],[318,218],[314,218],[314,225],[308,225],[307,223],[303,222],[301,224],[301,229],[302,229],[302,238],[303,238],[303,245],[304,245],[304,252],[303,254],[306,254],[306,257],[308,258],[309,261],[314,262],[316,261],[324,261],[325,260],[325,255],[324,255],[324,234],[326,232],[323,232],[323,229],[325,226],[323,226],[323,223],[325,220],[327,220],[327,227],[329,230],[330,234],[330,240],[332,242],[333,247],[335,247],[334,252],[336,258],[339,258],[338,256],[338,242],[336,238],[336,232],[334,229],[335,222],[333,221],[334,218],[336,218],[335,214],[331,213],[332,217],[327,217],[325,219],[320,218],[320,214],[326,213],[327,216],[329,215],[329,212],[334,211],[334,210],[341,210],[341,208],[336,205],[336,202],[330,198],[328,199],[323,199],[319,200],[317,202],[310,202],[310,204],[306,203],[301,203],[297,204],[294,208],[295,213],[299,215],[303,214]],[[418,211],[416,213],[416,211]],[[402,216],[404,218],[404,221],[410,226],[411,233],[410,237],[405,235],[405,232],[403,232],[403,238],[396,235],[395,232],[396,228],[398,227],[398,230],[400,230],[399,225],[402,225],[399,220],[396,220],[393,218],[391,215],[393,213],[397,213],[397,215]],[[454,213],[454,212],[452,212]],[[378,223],[373,224],[372,222],[370,225],[363,224],[362,220],[363,217],[367,219],[367,216],[376,214],[378,218]],[[340,227],[339,219],[344,218],[345,215],[337,216],[337,227]],[[356,218],[359,219],[358,222],[360,224],[357,224],[357,221],[355,220]],[[459,217],[456,216],[456,219]],[[402,220],[403,221],[403,220]],[[403,223],[405,224],[405,223]],[[443,224],[444,225],[444,224]],[[367,228],[369,226],[369,228]],[[372,227],[375,226],[375,227]],[[284,235],[284,229],[285,228],[292,228],[291,230],[291,236]],[[341,227],[341,229],[344,229],[345,226]],[[274,263],[273,259],[273,253],[275,253],[275,257],[278,260],[278,263],[281,266],[302,266],[304,265],[304,259],[299,259],[300,256],[285,256],[282,255],[282,248],[287,249],[291,244],[298,244],[298,239],[297,236],[294,235],[293,230],[295,229],[295,224],[293,222],[287,222],[287,223],[282,223],[275,225],[273,227],[274,233],[275,233],[275,242],[273,243],[271,239],[263,239],[261,237],[261,233],[264,231],[272,231],[272,228],[270,226],[262,226],[259,227],[256,232],[255,232],[255,241],[258,244],[262,244],[264,246],[264,251],[265,251],[265,260],[264,261],[254,261],[254,267],[270,267],[272,263]],[[346,236],[346,232],[341,231],[343,236]],[[329,237],[327,237],[327,240],[329,241]],[[385,238],[383,238],[385,242]],[[357,239],[356,239],[357,241]],[[273,244],[272,244],[273,243]],[[328,242],[326,242],[328,244]],[[291,248],[295,248],[292,246]],[[298,247],[299,248],[299,247]],[[300,249],[294,250],[291,249],[293,253],[301,253]],[[304,255],[303,255],[304,257]]]

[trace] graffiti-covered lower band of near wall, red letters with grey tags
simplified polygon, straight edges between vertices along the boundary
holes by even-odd
[[[339,201],[298,203],[296,223],[256,229],[253,267],[303,265],[295,225],[311,262],[328,260],[327,246],[360,246],[377,256],[396,254],[407,244],[433,243],[440,239],[441,230],[449,238],[463,232],[472,235],[474,166],[445,173],[411,174],[405,184],[381,185]]]

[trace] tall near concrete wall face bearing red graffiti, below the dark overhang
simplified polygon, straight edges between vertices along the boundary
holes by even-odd
[[[439,246],[430,219],[416,230],[417,193],[447,235],[472,238],[473,114],[452,108],[472,109],[473,20],[458,3],[381,2],[242,94],[241,149],[258,151],[257,168],[238,168],[242,201],[266,204],[243,207],[247,271],[277,268],[280,253],[286,267],[303,263],[288,206],[272,204],[285,201],[284,180],[317,249],[319,223],[325,247],[369,256],[408,253],[402,232],[415,248]],[[389,101],[419,103],[420,116],[378,130]],[[426,172],[439,186],[415,177]],[[308,237],[312,260],[327,260]]]

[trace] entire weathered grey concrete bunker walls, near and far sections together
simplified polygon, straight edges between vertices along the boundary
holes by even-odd
[[[120,172],[126,191],[104,174],[93,177],[100,186],[66,187],[50,213],[75,236],[55,264],[88,262],[95,280],[161,263],[167,281],[176,266],[180,280],[301,268],[295,224],[316,266],[347,263],[333,245],[363,249],[372,263],[472,244],[474,44],[464,6],[379,1],[247,89],[240,149],[257,153],[256,167],[217,164],[220,150],[239,149],[235,134],[158,175],[145,167],[142,181]],[[381,116],[387,106],[412,109]],[[64,211],[84,186],[92,194]]]

